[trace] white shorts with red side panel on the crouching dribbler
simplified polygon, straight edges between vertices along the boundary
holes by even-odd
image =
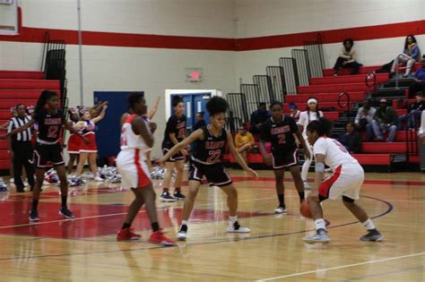
[[[336,167],[334,174],[319,186],[319,194],[326,199],[338,199],[346,196],[352,200],[359,199],[361,184],[365,174],[358,164]]]

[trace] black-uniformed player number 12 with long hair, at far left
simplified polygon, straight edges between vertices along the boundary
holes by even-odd
[[[70,132],[79,135],[83,141],[87,140],[76,132],[71,124],[65,121],[65,116],[59,108],[59,98],[56,92],[44,90],[41,92],[37,105],[35,107],[34,116],[30,123],[25,124],[8,135],[22,132],[29,128],[32,124],[38,123],[37,144],[34,150],[34,165],[36,166],[37,181],[32,192],[32,209],[30,210],[30,221],[39,221],[39,194],[41,185],[43,184],[44,173],[48,162],[52,163],[56,169],[60,180],[60,191],[62,197],[62,205],[59,214],[65,218],[74,218],[74,214],[67,208],[68,185],[66,182],[65,160],[62,153],[62,144],[59,142],[62,136],[62,127],[64,126]]]

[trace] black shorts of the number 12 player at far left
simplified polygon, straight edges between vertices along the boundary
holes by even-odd
[[[53,145],[37,143],[34,149],[34,166],[38,168],[48,167],[48,162],[53,166],[61,166],[65,164],[62,144]]]

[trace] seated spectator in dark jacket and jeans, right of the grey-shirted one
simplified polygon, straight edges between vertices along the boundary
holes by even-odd
[[[388,107],[385,98],[380,100],[379,108],[377,113],[373,117],[372,127],[377,141],[384,141],[382,135],[383,132],[388,132],[387,142],[393,142],[395,139],[395,133],[397,132],[397,114],[392,107]]]

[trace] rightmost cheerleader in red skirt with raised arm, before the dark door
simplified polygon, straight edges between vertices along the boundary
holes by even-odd
[[[102,107],[100,115],[95,118],[91,118],[91,112],[89,110],[85,110],[82,114],[81,120],[76,124],[77,126],[81,126],[82,136],[87,138],[89,143],[81,143],[80,147],[80,160],[78,162],[76,175],[82,175],[82,169],[84,167],[85,161],[89,159],[89,167],[91,173],[94,176],[95,181],[103,181],[102,178],[98,175],[98,166],[96,164],[96,158],[98,156],[98,147],[96,145],[96,124],[99,123],[103,117],[105,116],[106,109],[108,105]]]

